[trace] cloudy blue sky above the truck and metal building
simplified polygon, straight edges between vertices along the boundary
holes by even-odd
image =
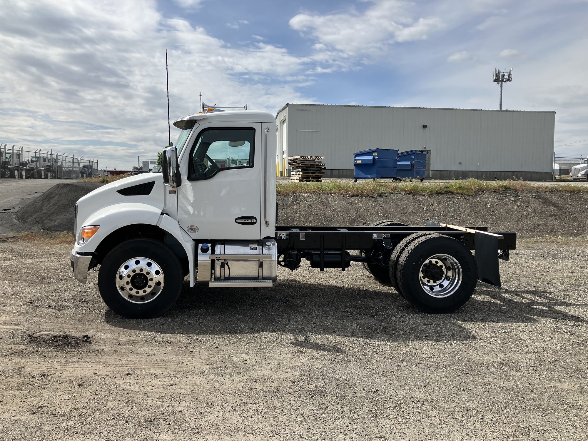
[[[586,0],[125,2],[0,8],[0,142],[130,168],[205,102],[556,111],[556,152],[588,155]],[[175,131],[175,129],[172,129]],[[172,138],[175,134],[172,134]]]

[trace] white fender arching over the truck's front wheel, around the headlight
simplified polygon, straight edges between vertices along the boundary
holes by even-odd
[[[75,232],[74,250],[82,253],[93,252],[98,248],[100,242],[113,231],[135,223],[157,225],[159,216],[161,216],[161,209],[146,203],[125,202],[106,206],[93,212],[85,220],[78,220],[79,227]],[[92,239],[83,245],[78,245],[79,229],[88,225],[99,225],[100,228]]]

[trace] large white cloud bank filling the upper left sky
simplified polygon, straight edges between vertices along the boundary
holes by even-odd
[[[307,60],[270,44],[233,49],[154,2],[44,0],[0,9],[0,139],[131,167],[168,143],[172,121],[197,112],[199,92],[225,105],[275,111],[301,95]],[[172,137],[176,129],[172,126]]]

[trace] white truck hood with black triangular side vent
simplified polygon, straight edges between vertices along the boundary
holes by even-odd
[[[109,205],[139,202],[163,210],[163,175],[141,173],[101,186],[78,200],[76,232],[92,213]]]

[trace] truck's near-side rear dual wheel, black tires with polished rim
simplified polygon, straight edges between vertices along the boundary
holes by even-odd
[[[447,259],[446,262],[443,262],[443,259]],[[433,272],[427,272],[427,265],[433,268]],[[444,265],[445,272],[439,270]],[[440,280],[436,288],[440,289],[437,296],[432,293],[432,286],[427,286],[428,289],[423,287],[423,274],[433,274],[431,279],[440,277],[437,279],[437,282]],[[447,278],[444,275],[447,275]],[[413,240],[404,250],[398,262],[397,280],[406,300],[416,308],[435,314],[453,312],[461,308],[476,289],[476,261],[472,252],[459,240],[437,234],[427,235]],[[437,283],[435,280],[426,282]]]

